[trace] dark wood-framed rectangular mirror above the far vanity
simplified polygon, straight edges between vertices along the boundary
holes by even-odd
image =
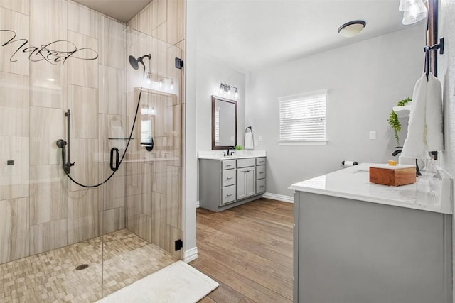
[[[237,145],[237,101],[212,96],[212,149]]]

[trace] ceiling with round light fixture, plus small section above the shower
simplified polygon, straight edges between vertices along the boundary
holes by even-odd
[[[128,21],[150,0],[76,0]],[[176,0],[167,0],[176,1]],[[400,0],[188,0],[199,53],[244,72],[404,29]],[[366,21],[353,37],[341,24]],[[196,24],[191,24],[193,21]],[[187,41],[188,42],[188,41]]]

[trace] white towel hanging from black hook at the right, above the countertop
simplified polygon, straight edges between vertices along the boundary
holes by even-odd
[[[432,74],[417,80],[412,94],[410,121],[403,157],[424,159],[443,149],[441,83]]]

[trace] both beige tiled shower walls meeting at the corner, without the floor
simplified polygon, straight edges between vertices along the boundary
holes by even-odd
[[[20,52],[11,58],[18,43],[0,47],[0,263],[125,227],[181,258],[173,242],[181,238],[184,83],[173,60],[184,57],[184,11],[184,0],[151,1],[128,25],[157,39],[127,53],[124,24],[85,6],[69,0],[0,0],[0,29],[13,30],[28,46],[69,40],[99,55],[53,65],[31,62]],[[0,32],[0,45],[11,37]],[[136,140],[127,156],[132,162],[104,187],[70,182],[55,145],[66,138],[64,112],[71,111],[71,160],[76,162],[71,175],[85,184],[101,182],[111,173],[109,149],[117,146],[122,153],[126,145],[112,138],[129,136],[136,106],[138,85],[125,81],[125,71],[131,72],[126,58],[145,53],[153,54],[156,81],[161,75],[180,86],[177,94],[148,100],[163,118],[154,125],[155,160]],[[139,127],[133,137],[140,137]],[[6,165],[8,160],[14,165]]]

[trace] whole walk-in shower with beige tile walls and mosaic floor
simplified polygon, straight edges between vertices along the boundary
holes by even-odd
[[[94,302],[181,259],[183,20],[160,1],[128,24],[0,1],[0,302]]]

